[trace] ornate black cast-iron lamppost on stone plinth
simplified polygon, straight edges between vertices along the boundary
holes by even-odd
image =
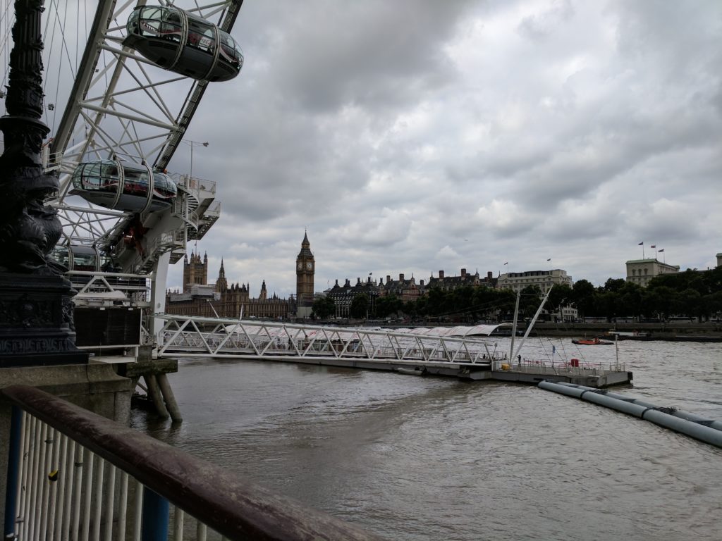
[[[61,235],[57,211],[45,205],[58,190],[43,172],[43,0],[16,0],[14,48],[0,118],[0,367],[87,363],[75,347],[71,284],[48,258]]]

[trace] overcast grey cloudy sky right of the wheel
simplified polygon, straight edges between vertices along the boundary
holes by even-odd
[[[209,281],[295,294],[305,229],[316,291],[722,252],[720,1],[245,0],[232,34],[186,134]]]

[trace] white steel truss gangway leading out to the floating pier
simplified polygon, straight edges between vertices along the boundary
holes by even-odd
[[[492,361],[500,360],[479,338],[165,314],[154,317],[165,320],[156,337],[158,356],[271,359],[366,368],[378,364],[381,369],[389,369],[390,364],[426,368],[455,365],[453,369],[467,372],[490,370]]]

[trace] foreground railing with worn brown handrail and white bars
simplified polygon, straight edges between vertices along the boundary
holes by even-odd
[[[2,393],[5,539],[380,539],[34,387]]]

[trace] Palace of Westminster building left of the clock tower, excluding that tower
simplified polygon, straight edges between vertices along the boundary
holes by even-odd
[[[290,304],[276,294],[269,297],[266,281],[261,284],[257,299],[251,299],[251,284],[233,283],[226,280],[223,261],[216,283],[208,284],[208,255],[191,253],[183,260],[183,293],[168,291],[165,294],[165,312],[174,315],[243,319],[286,318],[290,315]]]

